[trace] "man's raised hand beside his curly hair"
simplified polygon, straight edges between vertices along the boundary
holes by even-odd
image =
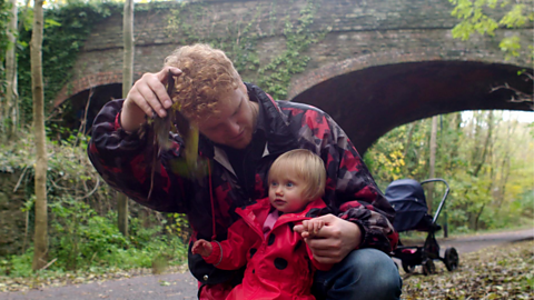
[[[126,97],[120,114],[120,123],[126,131],[137,130],[145,123],[145,116],[156,112],[160,118],[167,116],[166,109],[172,106],[172,100],[167,94],[167,80],[169,71],[174,76],[181,74],[181,70],[165,67],[157,73],[145,73]]]

